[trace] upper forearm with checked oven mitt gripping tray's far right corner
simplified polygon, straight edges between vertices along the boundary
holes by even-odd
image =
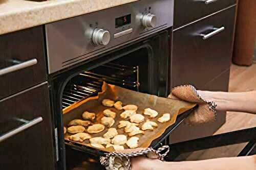
[[[191,126],[214,122],[221,113],[216,110],[256,113],[256,91],[201,91],[194,86],[184,85],[174,87],[168,98],[198,104],[198,108],[185,120],[185,124]]]

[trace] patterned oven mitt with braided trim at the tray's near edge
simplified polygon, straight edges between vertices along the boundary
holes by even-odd
[[[162,151],[165,152],[160,154]],[[107,170],[131,170],[131,158],[135,156],[145,155],[150,159],[160,159],[164,161],[164,157],[169,152],[169,146],[164,145],[158,150],[153,148],[136,148],[115,151],[106,154],[105,157],[100,157],[100,163],[105,166]]]

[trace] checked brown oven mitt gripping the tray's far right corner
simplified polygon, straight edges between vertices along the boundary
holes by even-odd
[[[216,120],[216,103],[202,99],[198,94],[197,89],[192,85],[174,87],[168,98],[198,104],[198,108],[184,120],[186,125],[195,126],[214,122]]]

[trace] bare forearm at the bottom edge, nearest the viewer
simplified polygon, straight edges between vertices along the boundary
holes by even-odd
[[[255,170],[256,155],[200,161],[162,162],[140,156],[132,159],[132,170]]]

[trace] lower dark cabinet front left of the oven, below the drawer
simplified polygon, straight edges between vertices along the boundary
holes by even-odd
[[[48,84],[0,100],[0,169],[54,169]],[[16,131],[19,133],[8,137]]]

